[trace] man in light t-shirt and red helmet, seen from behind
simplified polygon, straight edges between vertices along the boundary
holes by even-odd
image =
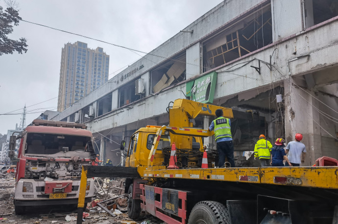
[[[285,149],[285,153],[288,154],[289,152],[288,159],[292,166],[299,166],[300,163],[304,163],[306,150],[305,145],[300,142],[302,139],[303,135],[297,133],[294,137],[295,141],[288,143]],[[285,163],[285,166],[288,166],[287,163]]]

